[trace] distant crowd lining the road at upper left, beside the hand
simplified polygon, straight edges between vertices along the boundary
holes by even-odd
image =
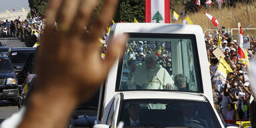
[[[33,47],[39,42],[43,32],[43,19],[41,17],[31,17],[22,20],[20,17],[14,21],[0,21],[1,37],[18,37],[25,41],[26,47]]]

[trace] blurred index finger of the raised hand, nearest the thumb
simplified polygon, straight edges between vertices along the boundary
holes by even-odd
[[[102,33],[102,28],[107,27],[107,24],[115,13],[117,0],[106,0],[102,5],[101,13],[99,13],[95,23],[93,24],[93,31],[90,34],[91,39],[97,39]],[[96,44],[95,44],[96,45]]]

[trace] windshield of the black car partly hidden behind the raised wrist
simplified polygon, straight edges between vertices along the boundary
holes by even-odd
[[[34,53],[34,51],[14,51],[11,53],[11,63],[13,64],[24,64],[27,58]]]

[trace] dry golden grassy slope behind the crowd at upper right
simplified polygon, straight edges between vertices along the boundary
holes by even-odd
[[[215,26],[211,21],[204,15],[203,11],[213,15],[219,21],[221,27],[226,28],[237,28],[237,23],[241,22],[242,27],[247,27],[251,25],[250,28],[256,28],[256,2],[250,5],[239,4],[234,7],[224,7],[223,9],[209,8],[201,9],[198,13],[191,13],[189,18],[196,25],[201,25],[204,31],[208,29],[214,29]],[[181,19],[175,21],[174,23],[183,23]],[[237,31],[235,31],[237,33]],[[256,30],[245,31],[245,34],[256,35]]]

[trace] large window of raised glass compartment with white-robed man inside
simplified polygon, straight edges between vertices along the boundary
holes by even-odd
[[[115,91],[203,92],[195,35],[129,33]]]

